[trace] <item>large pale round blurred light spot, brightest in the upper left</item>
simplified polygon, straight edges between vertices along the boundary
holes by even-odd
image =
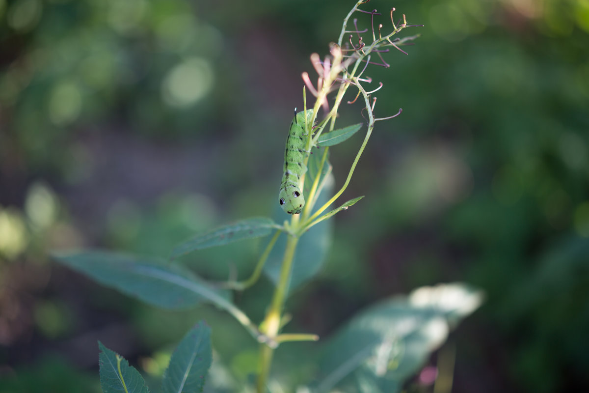
[[[209,61],[190,58],[172,68],[162,83],[164,101],[171,107],[186,108],[204,98],[213,87]]]

